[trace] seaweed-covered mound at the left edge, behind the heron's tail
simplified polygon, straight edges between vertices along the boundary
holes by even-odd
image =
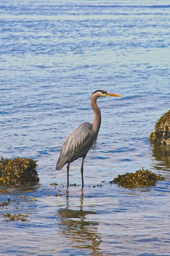
[[[0,185],[16,186],[38,182],[37,161],[15,157],[0,159]]]

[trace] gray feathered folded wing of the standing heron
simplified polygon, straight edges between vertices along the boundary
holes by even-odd
[[[94,141],[95,132],[92,124],[83,123],[79,125],[63,142],[56,169],[60,170],[64,164],[82,157],[88,152]]]

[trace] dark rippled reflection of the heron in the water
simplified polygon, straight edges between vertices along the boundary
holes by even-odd
[[[89,249],[89,255],[102,256],[99,248],[102,242],[100,234],[97,232],[99,223],[97,221],[87,220],[86,216],[97,214],[94,211],[83,211],[84,193],[80,197],[79,210],[69,209],[69,192],[66,191],[67,207],[60,209],[58,215],[60,219],[61,234],[68,238],[69,245],[77,249]]]

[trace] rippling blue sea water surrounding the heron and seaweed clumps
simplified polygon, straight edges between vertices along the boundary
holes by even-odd
[[[67,190],[60,147],[93,122],[99,88],[122,97],[98,99],[97,156],[85,159],[83,191],[82,159],[70,165]],[[0,255],[170,256],[170,147],[149,142],[169,109],[168,0],[1,0],[0,156],[38,160],[40,182],[0,194]],[[110,185],[142,167],[165,180]]]

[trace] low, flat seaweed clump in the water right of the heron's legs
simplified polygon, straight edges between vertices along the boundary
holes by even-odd
[[[118,175],[117,178],[110,183],[116,183],[119,186],[124,186],[126,188],[141,187],[141,186],[154,186],[157,180],[164,180],[161,175],[156,175],[151,171],[142,170],[136,171],[135,173],[126,173],[123,175]]]

